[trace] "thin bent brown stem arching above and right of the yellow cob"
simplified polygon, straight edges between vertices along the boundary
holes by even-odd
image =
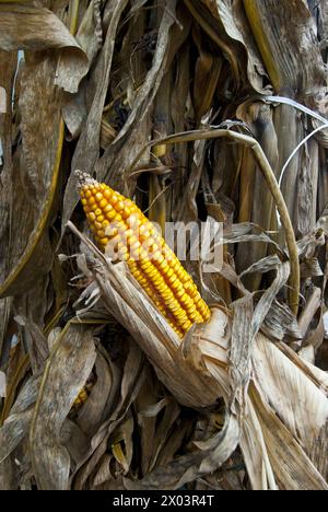
[[[204,129],[204,130],[195,130],[195,131],[185,131],[181,133],[172,135],[165,137],[163,139],[152,140],[150,141],[138,154],[136,160],[133,161],[132,165],[130,166],[129,171],[132,171],[133,167],[137,165],[139,160],[141,159],[142,154],[149,147],[157,146],[157,144],[178,144],[181,142],[192,142],[196,140],[210,140],[210,139],[220,139],[226,138],[233,140],[234,142],[239,142],[248,148],[250,148],[254,152],[255,159],[267,181],[268,187],[272,194],[273,200],[276,201],[277,209],[279,211],[281,218],[281,224],[284,230],[285,242],[289,251],[290,256],[290,265],[291,265],[291,274],[289,280],[289,305],[292,312],[297,315],[298,312],[298,298],[300,298],[300,282],[301,282],[301,274],[300,274],[300,261],[298,261],[298,252],[296,245],[296,238],[292,225],[292,221],[289,214],[289,210],[286,208],[284,198],[281,194],[279,188],[278,182],[276,179],[276,175],[272,171],[268,159],[257,142],[257,140],[253,139],[249,136],[237,133],[236,131],[231,131],[226,129]]]

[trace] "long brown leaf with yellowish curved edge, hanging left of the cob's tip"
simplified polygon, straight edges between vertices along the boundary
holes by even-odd
[[[24,292],[51,265],[47,226],[58,183],[63,140],[60,98],[55,93],[54,77],[54,58],[43,57],[31,59],[22,77],[20,110],[23,143],[22,150],[15,155],[14,166],[24,170],[25,175],[22,181],[16,172],[11,178],[13,202],[10,207],[13,210],[11,230],[21,235],[10,240],[10,268],[7,275],[3,276],[3,270],[1,272],[4,280],[0,287],[2,296]],[[37,109],[35,104],[38,105]],[[37,130],[40,123],[44,125],[42,133]],[[21,201],[25,195],[30,200]]]

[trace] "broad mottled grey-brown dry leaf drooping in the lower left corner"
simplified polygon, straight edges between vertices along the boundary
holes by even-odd
[[[92,331],[68,324],[47,362],[30,434],[33,469],[40,489],[68,487],[70,457],[60,443],[60,430],[95,358]]]

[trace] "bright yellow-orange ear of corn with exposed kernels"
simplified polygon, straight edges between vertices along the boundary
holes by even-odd
[[[77,171],[79,190],[98,246],[126,260],[131,275],[183,337],[210,319],[206,302],[174,252],[137,205]]]

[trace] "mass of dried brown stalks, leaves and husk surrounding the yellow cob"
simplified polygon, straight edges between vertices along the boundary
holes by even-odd
[[[328,489],[328,1],[0,1],[0,489]],[[176,338],[75,170],[222,222]]]

